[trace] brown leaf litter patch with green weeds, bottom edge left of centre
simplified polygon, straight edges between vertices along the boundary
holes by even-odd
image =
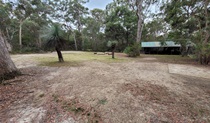
[[[64,97],[53,94],[52,99],[46,103],[46,107],[48,112],[43,121],[46,123],[61,121],[68,116],[74,117],[74,119],[81,122],[102,123],[101,115],[97,109],[81,103],[77,98],[67,100]]]

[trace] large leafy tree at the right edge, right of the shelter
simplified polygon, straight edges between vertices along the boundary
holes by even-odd
[[[183,44],[184,48],[188,40],[194,42],[200,63],[207,64],[210,55],[209,0],[168,1],[162,9],[178,42]]]

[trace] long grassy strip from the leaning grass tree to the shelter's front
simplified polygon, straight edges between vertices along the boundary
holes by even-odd
[[[153,61],[159,61],[163,63],[176,63],[176,64],[197,64],[195,59],[190,57],[181,57],[181,55],[151,55],[141,54],[140,57],[132,58],[126,57],[123,53],[116,53],[115,59],[111,58],[111,55],[97,55],[93,52],[63,52],[63,63],[58,62],[58,56],[54,53],[42,54],[33,56],[33,59],[39,63],[40,66],[50,67],[78,67],[82,66],[83,62],[104,62],[104,63],[121,63],[129,61],[141,61],[143,58],[156,58]]]

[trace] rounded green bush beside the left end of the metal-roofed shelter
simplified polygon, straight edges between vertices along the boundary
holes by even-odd
[[[140,55],[140,46],[135,43],[131,46],[126,47],[123,52],[126,53],[129,57],[137,57]]]

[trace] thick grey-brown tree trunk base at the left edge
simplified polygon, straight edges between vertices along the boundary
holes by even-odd
[[[5,79],[10,79],[20,74],[10,58],[3,34],[0,31],[0,83]]]

